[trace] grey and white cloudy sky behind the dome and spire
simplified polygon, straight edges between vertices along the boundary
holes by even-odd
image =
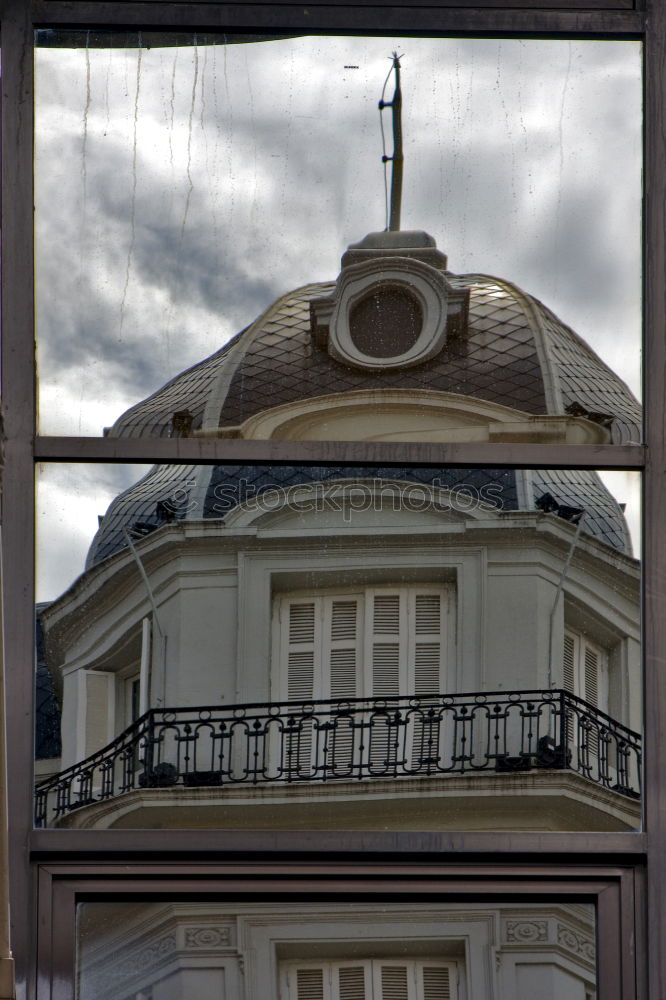
[[[84,45],[37,53],[42,433],[100,434],[384,228],[377,101],[393,50],[403,228],[428,230],[452,270],[542,299],[638,393],[637,43]],[[80,569],[129,474],[47,471],[42,596]]]

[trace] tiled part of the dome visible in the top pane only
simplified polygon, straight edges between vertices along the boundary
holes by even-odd
[[[170,437],[174,414],[188,412],[191,433],[236,436],[256,414],[286,403],[354,390],[455,393],[529,414],[586,416],[612,443],[641,438],[641,413],[622,380],[541,302],[482,274],[445,272],[469,291],[464,336],[435,357],[396,370],[354,368],[318,346],[311,307],[334,283],[288,292],[220,351],[124,413],[112,437]]]

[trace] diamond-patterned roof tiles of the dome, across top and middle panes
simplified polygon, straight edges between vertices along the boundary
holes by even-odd
[[[221,402],[220,425],[235,426],[250,416],[280,405],[334,392],[355,389],[400,388],[440,390],[502,403],[534,414],[564,413],[571,404],[612,416],[612,440],[640,440],[640,407],[621,380],[577,335],[536,299],[525,296],[507,282],[486,275],[449,275],[458,288],[471,293],[468,331],[449,341],[430,361],[403,371],[369,372],[341,364],[315,347],[310,331],[310,302],[331,294],[334,284],[318,283],[297,289],[278,300],[231,343],[172,379],[148,399],[128,410],[114,425],[112,435],[169,436],[173,414],[188,409],[193,427],[202,426],[211,396],[230,364],[229,385]],[[233,362],[231,357],[233,356]],[[554,389],[546,396],[548,378]],[[348,476],[349,468],[303,469],[282,467],[212,467],[209,492],[215,483],[244,478],[255,492],[276,483],[330,481]],[[89,565],[122,548],[123,530],[136,521],[157,524],[156,504],[178,495],[190,497],[196,469],[189,466],[156,468],[140,483],[118,497],[104,518],[89,554]],[[356,469],[354,475],[410,478],[451,485],[463,479],[479,483],[501,470]],[[308,479],[307,476],[310,478]],[[304,479],[304,477],[306,477]],[[314,479],[312,477],[315,477]],[[447,478],[448,477],[448,478]],[[458,478],[456,478],[458,477]],[[616,502],[595,473],[533,473],[535,491],[552,492],[562,502],[585,507],[584,530],[609,545],[629,551],[626,524]],[[515,509],[514,485],[507,482],[506,497]],[[511,492],[513,490],[513,492]],[[177,491],[177,493],[176,493]],[[513,499],[511,499],[513,498]],[[209,504],[207,494],[205,504]],[[511,507],[510,504],[514,506]],[[220,516],[204,506],[205,516]],[[192,514],[190,516],[200,516]],[[178,508],[174,517],[188,516]]]

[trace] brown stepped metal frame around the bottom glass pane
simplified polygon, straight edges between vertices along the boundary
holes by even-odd
[[[567,865],[554,877],[546,865],[526,865],[520,876],[501,864],[411,863],[395,860],[310,860],[153,863],[135,866],[121,876],[100,874],[93,864],[43,865],[39,871],[41,923],[51,928],[39,941],[39,996],[70,1000],[75,979],[76,906],[140,898],[175,902],[205,897],[232,909],[237,902],[301,903],[325,901],[462,904],[569,902],[596,909],[598,950],[605,956],[598,971],[598,994],[604,1000],[637,996],[635,963],[625,942],[634,933],[636,873],[632,866],[603,865],[594,874]]]

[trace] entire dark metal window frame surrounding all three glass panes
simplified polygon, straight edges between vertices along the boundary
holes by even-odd
[[[188,3],[4,0],[2,373],[5,663],[13,949],[18,997],[72,995],[77,899],[216,892],[558,898],[597,906],[604,1000],[666,996],[666,4],[663,0],[359,0]],[[646,67],[645,446],[404,445],[35,437],[33,29],[411,32],[641,39]],[[621,248],[618,248],[621,252]],[[32,829],[34,463],[307,462],[549,465],[644,473],[643,832],[260,833]],[[225,867],[226,866],[226,867]],[[39,965],[38,974],[35,973]],[[607,971],[610,970],[610,971]]]

